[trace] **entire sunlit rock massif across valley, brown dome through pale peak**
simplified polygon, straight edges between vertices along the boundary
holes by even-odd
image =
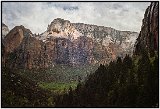
[[[16,68],[107,63],[117,56],[132,55],[137,36],[136,32],[71,23],[57,18],[40,35],[16,26],[4,38],[3,51],[7,60],[5,63]]]

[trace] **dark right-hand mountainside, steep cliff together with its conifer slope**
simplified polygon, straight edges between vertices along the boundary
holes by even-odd
[[[118,57],[56,99],[56,107],[159,107],[159,2],[146,9],[135,54]]]

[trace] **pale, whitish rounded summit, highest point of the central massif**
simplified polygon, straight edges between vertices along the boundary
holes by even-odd
[[[70,21],[56,18],[48,25],[47,31],[42,33],[41,36],[40,40],[44,41],[51,37],[61,37],[72,40],[77,39],[81,34],[75,29]]]

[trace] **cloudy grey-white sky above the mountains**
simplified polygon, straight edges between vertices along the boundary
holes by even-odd
[[[2,2],[2,22],[43,33],[56,18],[139,32],[150,2]]]

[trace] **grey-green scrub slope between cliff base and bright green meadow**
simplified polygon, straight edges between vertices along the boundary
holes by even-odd
[[[83,65],[78,67],[68,65],[56,65],[50,69],[17,69],[16,72],[26,78],[38,82],[70,83],[76,82],[79,78],[84,81],[90,73],[93,73],[98,65]]]

